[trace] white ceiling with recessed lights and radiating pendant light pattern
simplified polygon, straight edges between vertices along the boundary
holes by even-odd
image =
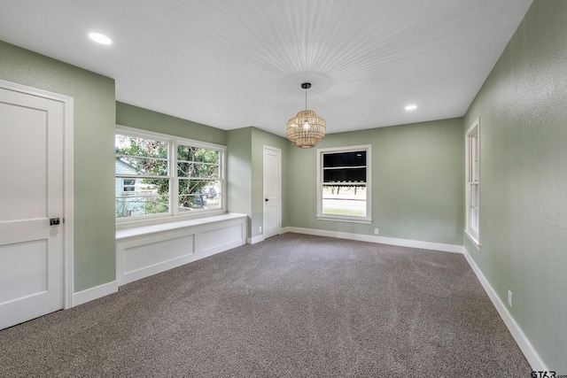
[[[309,81],[307,107],[337,133],[461,117],[530,4],[1,0],[0,39],[115,79],[120,102],[227,130],[285,135]]]

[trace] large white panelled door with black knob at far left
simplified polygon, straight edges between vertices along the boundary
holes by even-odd
[[[64,306],[65,104],[3,87],[0,329]],[[50,226],[57,218],[59,224]]]

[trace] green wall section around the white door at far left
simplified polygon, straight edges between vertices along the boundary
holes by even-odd
[[[74,292],[113,282],[113,79],[1,41],[0,79],[74,97]]]

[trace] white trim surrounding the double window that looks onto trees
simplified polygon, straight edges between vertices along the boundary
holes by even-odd
[[[170,193],[177,193],[178,192],[178,183],[175,180],[177,169],[177,145],[178,144],[189,144],[194,147],[200,147],[204,149],[212,149],[212,150],[219,150],[221,152],[221,158],[219,161],[219,174],[220,174],[220,181],[221,181],[221,205],[219,209],[215,210],[204,210],[198,211],[194,213],[184,213],[178,214],[176,210],[176,204],[173,202],[174,196],[172,198],[172,204],[170,204],[170,211],[163,214],[151,214],[151,215],[142,215],[136,218],[118,218],[116,219],[116,228],[117,229],[124,229],[124,228],[131,228],[131,227],[139,227],[139,226],[150,226],[154,224],[161,224],[167,223],[172,221],[179,221],[179,220],[190,220],[190,219],[197,219],[197,218],[205,218],[211,217],[214,215],[221,215],[227,212],[226,204],[227,204],[227,188],[226,188],[226,146],[221,144],[215,143],[206,143],[201,141],[196,141],[193,139],[187,139],[180,136],[175,135],[167,135],[162,133],[156,133],[153,131],[144,130],[141,128],[136,127],[128,127],[122,125],[116,125],[115,134],[120,135],[128,135],[128,136],[136,136],[142,138],[148,138],[153,140],[159,140],[162,142],[169,143],[169,166],[168,166],[168,174],[167,178],[170,182]]]

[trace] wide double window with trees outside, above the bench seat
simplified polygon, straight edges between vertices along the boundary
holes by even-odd
[[[117,127],[117,220],[224,209],[224,147]]]

